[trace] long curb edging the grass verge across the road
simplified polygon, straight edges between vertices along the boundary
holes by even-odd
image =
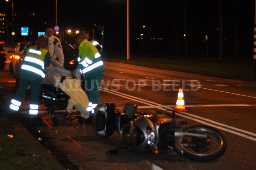
[[[126,62],[126,61],[108,60],[108,59],[104,59],[104,58],[102,60],[108,61],[108,62],[114,62],[114,63],[130,64],[130,65],[135,65],[135,66],[150,67],[150,68],[170,70],[170,71],[178,71],[178,72],[183,72],[183,73],[198,74],[198,75],[211,76],[211,77],[217,77],[217,78],[235,79],[235,80],[244,80],[244,81],[256,81],[256,78],[232,77],[232,76],[225,76],[225,75],[212,74],[212,73],[182,70],[182,69],[176,69],[176,68],[168,68],[168,67],[159,67],[159,66],[139,64],[139,63],[131,63],[131,62]]]

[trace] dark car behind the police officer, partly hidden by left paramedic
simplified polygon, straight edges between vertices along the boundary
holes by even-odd
[[[23,51],[27,50],[28,47],[35,45],[35,42],[30,42],[27,43],[26,46],[24,47]],[[77,61],[76,59],[76,54],[75,54],[75,49],[73,46],[67,42],[62,42],[61,43],[62,49],[63,49],[63,54],[64,54],[64,67],[67,70],[73,71],[77,68],[78,63],[75,62]],[[19,79],[20,79],[20,69],[21,65],[23,63],[23,58],[25,56],[25,53],[21,53],[20,58],[17,60],[15,63],[15,77],[16,77],[16,84],[19,84]]]

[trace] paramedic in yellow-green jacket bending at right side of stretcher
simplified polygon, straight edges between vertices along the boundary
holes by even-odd
[[[78,69],[83,78],[83,90],[90,101],[87,111],[92,116],[94,108],[99,104],[99,88],[101,79],[104,76],[105,68],[101,55],[97,48],[89,42],[82,33],[75,36],[76,44],[79,45]]]

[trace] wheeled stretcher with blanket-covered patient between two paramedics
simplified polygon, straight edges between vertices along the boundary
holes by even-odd
[[[70,121],[89,117],[86,110],[89,99],[80,82],[76,77],[71,77],[69,70],[63,68],[53,67],[46,71],[46,78],[41,85],[40,100],[45,104],[55,126],[58,125],[56,113],[64,113],[63,118]],[[71,114],[76,114],[76,117],[73,118]]]

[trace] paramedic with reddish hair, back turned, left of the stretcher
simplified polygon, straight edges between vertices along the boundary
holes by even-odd
[[[31,86],[30,115],[38,114],[39,92],[41,81],[45,77],[44,67],[50,65],[50,54],[46,45],[46,36],[39,36],[36,45],[27,49],[23,64],[20,70],[19,88],[11,100],[10,112],[18,111],[21,106],[22,98],[25,96],[28,85]]]

